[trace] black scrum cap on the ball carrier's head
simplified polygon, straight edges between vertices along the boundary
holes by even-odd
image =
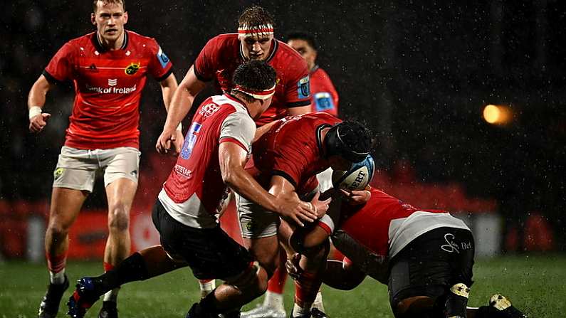
[[[340,122],[330,128],[325,137],[326,157],[340,156],[348,161],[360,162],[370,154],[370,130],[359,122]]]

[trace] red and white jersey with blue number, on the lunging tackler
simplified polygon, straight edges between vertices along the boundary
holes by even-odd
[[[167,212],[187,226],[214,226],[211,215],[226,194],[219,164],[222,142],[239,144],[248,154],[256,124],[243,104],[231,95],[212,96],[201,103],[173,171],[159,195]]]

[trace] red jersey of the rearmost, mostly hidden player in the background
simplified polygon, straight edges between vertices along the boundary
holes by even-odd
[[[313,112],[338,115],[338,92],[330,76],[318,65],[310,71],[310,105]]]

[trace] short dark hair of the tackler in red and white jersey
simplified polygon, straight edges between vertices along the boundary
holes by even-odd
[[[277,79],[277,73],[271,65],[263,60],[248,60],[244,62],[234,71],[233,83],[240,85],[248,90],[268,90],[273,88]],[[248,102],[253,102],[254,98],[245,95]],[[249,98],[249,99],[248,99]]]

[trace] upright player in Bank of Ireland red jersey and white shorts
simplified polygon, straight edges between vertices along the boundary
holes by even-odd
[[[45,238],[50,285],[39,317],[56,317],[68,287],[68,230],[93,191],[97,171],[104,172],[108,198],[105,269],[130,255],[128,227],[139,174],[141,93],[151,75],[161,85],[167,108],[177,80],[172,63],[153,38],[124,29],[127,19],[123,0],[93,1],[91,21],[97,31],[65,43],[29,92],[29,129],[41,132],[51,117],[42,108],[53,84],[72,80],[75,87],[73,112],[54,172]],[[174,135],[180,144],[180,132]],[[117,317],[116,297],[117,290],[105,295],[101,314]]]

